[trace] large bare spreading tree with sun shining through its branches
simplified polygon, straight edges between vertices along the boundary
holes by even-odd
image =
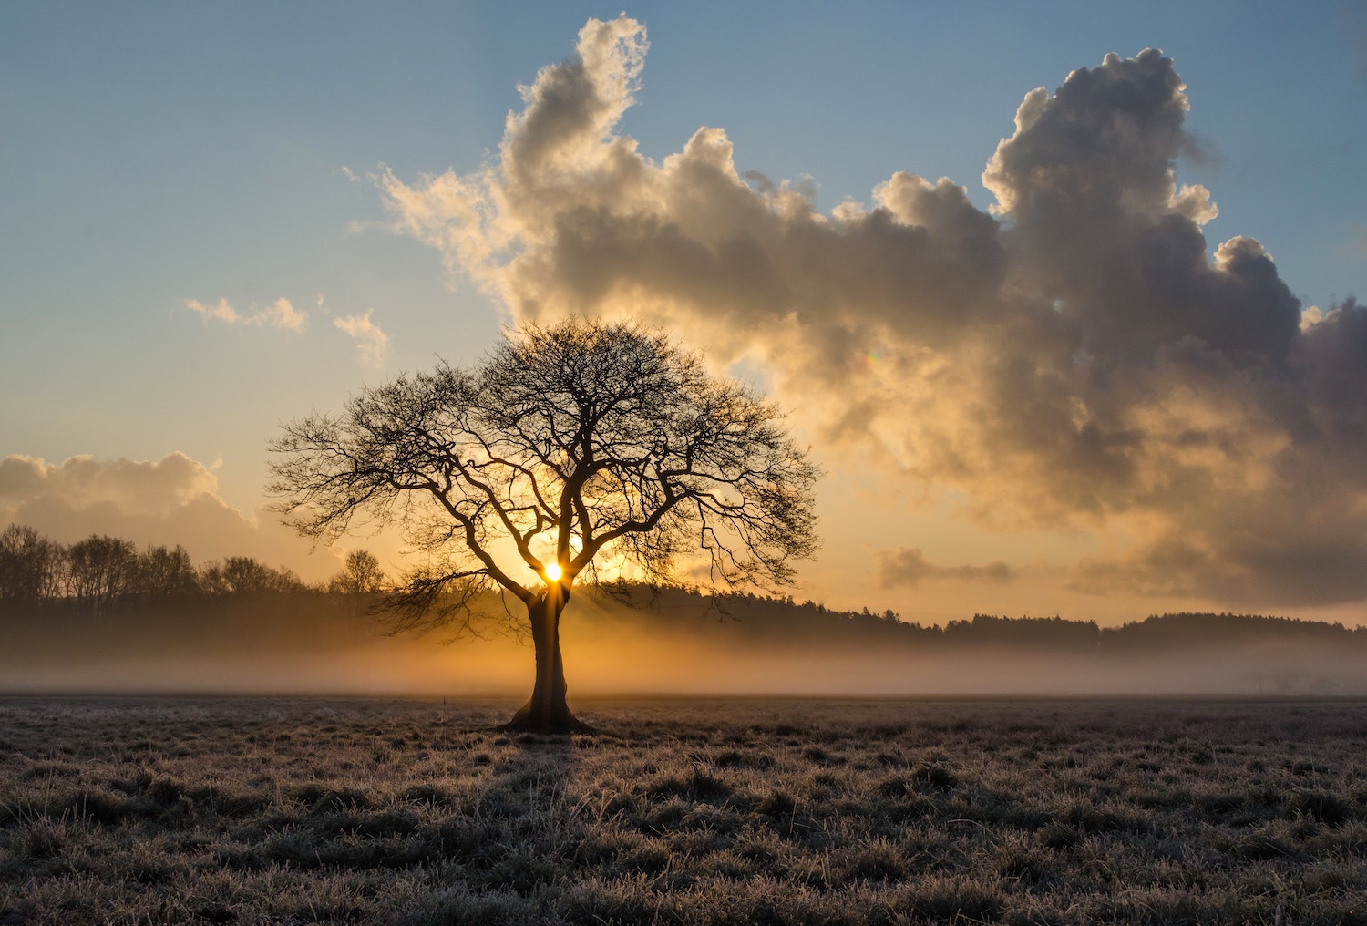
[[[781,417],[663,332],[529,324],[473,369],[442,364],[283,425],[269,491],[316,540],[357,518],[405,528],[427,562],[388,594],[399,628],[469,621],[487,591],[519,599],[536,684],[510,728],[582,730],[559,643],[581,576],[612,564],[666,583],[693,554],[714,588],[774,588],[815,551],[817,469]]]

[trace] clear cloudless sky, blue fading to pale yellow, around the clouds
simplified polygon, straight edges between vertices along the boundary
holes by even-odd
[[[385,227],[368,175],[387,166],[414,183],[496,163],[504,118],[524,105],[518,85],[571,55],[589,16],[617,14],[548,3],[0,7],[0,455],[56,465],[179,451],[253,517],[280,420],[338,408],[436,356],[469,360],[498,334],[488,295]],[[1107,52],[1161,48],[1191,103],[1177,181],[1206,186],[1219,207],[1204,226],[1210,250],[1256,238],[1303,308],[1367,293],[1362,4],[696,3],[626,14],[648,29],[649,52],[618,131],[662,163],[700,126],[723,127],[738,171],[809,178],[822,212],[869,205],[895,171],[949,176],[986,211],[994,197],[980,175],[1029,90],[1053,92]],[[221,324],[186,305],[223,300],[249,319],[282,298],[308,312],[301,331],[264,316]],[[366,312],[388,338],[379,362],[334,324]],[[860,488],[868,479],[837,469],[830,491],[842,505],[901,491],[882,477]],[[872,543],[868,555],[915,546],[936,561],[1013,564],[1118,543],[1076,531],[1021,540],[1035,535],[942,513],[917,509],[886,528],[960,538],[938,554],[905,536],[860,543]],[[75,531],[79,518],[63,524]],[[837,532],[831,561],[852,544]],[[812,595],[857,595],[813,576]],[[916,591],[924,600],[927,588]],[[936,613],[957,606],[951,591]],[[1003,609],[1021,600],[1009,591]],[[902,606],[897,594],[884,596]],[[1079,600],[1044,585],[1029,598],[1036,610],[1085,610]]]

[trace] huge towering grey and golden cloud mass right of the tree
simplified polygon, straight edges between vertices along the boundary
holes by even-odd
[[[589,21],[496,161],[375,178],[394,227],[513,320],[671,326],[719,365],[764,364],[824,446],[988,527],[1095,532],[1076,587],[1367,598],[1367,309],[1303,312],[1258,241],[1207,242],[1169,57],[1027,93],[987,211],[898,171],[826,215],[804,183],[738,172],[723,129],[641,155],[619,120],[647,48],[626,16]]]

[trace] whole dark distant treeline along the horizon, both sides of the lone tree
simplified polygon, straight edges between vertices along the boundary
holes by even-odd
[[[48,540],[37,531],[11,524],[0,532],[0,614],[11,617],[60,611],[79,617],[119,616],[119,624],[156,624],[186,607],[213,605],[217,616],[250,607],[238,616],[247,631],[252,616],[279,622],[283,616],[306,624],[327,611],[324,595],[364,596],[380,600],[388,579],[379,559],[365,550],[347,555],[344,566],[324,583],[305,583],[290,569],[278,569],[252,557],[228,557],[195,565],[180,546],[148,546],[92,535],[72,544]],[[690,587],[652,588],[610,583],[578,595],[597,600],[597,617],[576,620],[629,621],[649,632],[664,618],[674,631],[694,639],[729,637],[808,646],[876,646],[894,648],[1010,647],[1073,654],[1136,654],[1169,647],[1239,646],[1258,641],[1321,643],[1352,650],[1367,648],[1367,628],[1303,621],[1258,614],[1155,614],[1121,626],[1061,617],[998,617],[975,614],[945,626],[904,621],[893,610],[874,614],[827,609],[791,596],[715,595]],[[264,598],[273,603],[264,607]],[[290,605],[294,602],[294,606]],[[306,603],[306,606],[305,606]],[[228,609],[228,610],[224,610]],[[320,610],[321,609],[321,610]],[[476,606],[492,622],[506,622],[507,611],[496,596]],[[139,617],[141,616],[141,617]],[[243,622],[245,621],[245,622]],[[383,628],[383,617],[377,620]]]

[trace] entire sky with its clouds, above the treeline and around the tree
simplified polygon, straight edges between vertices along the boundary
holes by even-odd
[[[794,596],[1367,622],[1367,7],[3,4],[0,524],[247,554],[282,421],[667,327],[826,476]]]

